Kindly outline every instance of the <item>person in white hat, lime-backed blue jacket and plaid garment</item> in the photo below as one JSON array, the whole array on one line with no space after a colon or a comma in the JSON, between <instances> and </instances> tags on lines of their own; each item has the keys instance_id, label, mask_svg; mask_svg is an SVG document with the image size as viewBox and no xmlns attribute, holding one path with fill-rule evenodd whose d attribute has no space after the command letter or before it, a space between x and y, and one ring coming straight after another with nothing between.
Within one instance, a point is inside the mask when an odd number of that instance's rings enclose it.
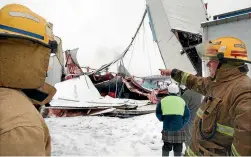
<instances>
[{"instance_id":1,"label":"person in white hat, lime-backed blue jacket and plaid garment","mask_svg":"<svg viewBox=\"0 0 251 157\"><path fill-rule=\"evenodd\" d=\"M174 156L181 156L183 142L186 141L184 126L190 118L190 111L185 101L178 96L179 87L176 84L168 86L168 96L157 103L156 116L163 122L162 130L162 156L169 156L174 151Z\"/></svg>"}]
</instances>

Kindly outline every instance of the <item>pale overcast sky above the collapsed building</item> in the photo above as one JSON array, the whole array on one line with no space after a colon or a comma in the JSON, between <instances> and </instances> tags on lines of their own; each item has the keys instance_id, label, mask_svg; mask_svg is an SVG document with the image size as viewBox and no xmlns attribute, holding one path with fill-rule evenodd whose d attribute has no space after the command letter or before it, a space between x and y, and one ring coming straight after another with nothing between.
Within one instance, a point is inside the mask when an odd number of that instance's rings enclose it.
<instances>
[{"instance_id":1,"label":"pale overcast sky above the collapsed building","mask_svg":"<svg viewBox=\"0 0 251 157\"><path fill-rule=\"evenodd\" d=\"M251 6L251 0L205 1L209 15ZM54 34L63 40L63 49L79 47L81 64L94 68L123 52L145 9L145 0L0 0L0 8L9 3L23 4L53 23ZM150 57L134 52L131 62L135 75L156 74L163 66L155 48L149 49Z\"/></svg>"}]
</instances>

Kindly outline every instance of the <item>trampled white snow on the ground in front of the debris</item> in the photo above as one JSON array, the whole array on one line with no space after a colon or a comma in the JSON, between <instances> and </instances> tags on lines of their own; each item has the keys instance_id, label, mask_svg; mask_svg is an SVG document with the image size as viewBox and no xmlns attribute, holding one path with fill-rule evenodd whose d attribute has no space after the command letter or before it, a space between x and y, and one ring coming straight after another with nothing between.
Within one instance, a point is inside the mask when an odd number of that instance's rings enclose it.
<instances>
[{"instance_id":1,"label":"trampled white snow on the ground in front of the debris","mask_svg":"<svg viewBox=\"0 0 251 157\"><path fill-rule=\"evenodd\" d=\"M162 124L155 114L46 118L52 155L161 156ZM170 154L171 155L171 154Z\"/></svg>"}]
</instances>

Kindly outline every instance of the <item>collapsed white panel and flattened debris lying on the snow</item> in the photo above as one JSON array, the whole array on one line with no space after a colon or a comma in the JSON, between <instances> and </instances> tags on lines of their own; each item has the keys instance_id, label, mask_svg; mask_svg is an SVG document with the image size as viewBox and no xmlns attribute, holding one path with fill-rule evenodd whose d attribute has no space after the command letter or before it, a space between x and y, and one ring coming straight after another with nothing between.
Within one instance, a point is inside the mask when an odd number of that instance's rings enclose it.
<instances>
[{"instance_id":1,"label":"collapsed white panel and flattened debris lying on the snow","mask_svg":"<svg viewBox=\"0 0 251 157\"><path fill-rule=\"evenodd\" d=\"M48 109L48 117L107 115L130 117L153 113L155 104L149 100L133 100L101 96L87 75L65 80L55 85L56 95Z\"/></svg>"}]
</instances>

